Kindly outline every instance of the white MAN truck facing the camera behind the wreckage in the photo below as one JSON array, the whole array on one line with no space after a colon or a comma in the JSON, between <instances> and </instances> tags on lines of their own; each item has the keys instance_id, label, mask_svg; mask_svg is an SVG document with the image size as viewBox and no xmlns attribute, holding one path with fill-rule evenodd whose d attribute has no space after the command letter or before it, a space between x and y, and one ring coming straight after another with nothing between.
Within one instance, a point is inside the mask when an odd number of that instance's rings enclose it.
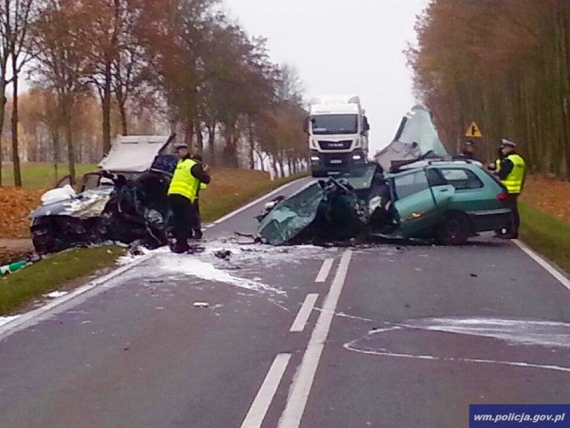
<instances>
[{"instance_id":1,"label":"white MAN truck facing the camera behind the wreckage","mask_svg":"<svg viewBox=\"0 0 570 428\"><path fill-rule=\"evenodd\" d=\"M305 132L313 177L335 175L368 161L370 125L365 113L357 95L311 100Z\"/></svg>"}]
</instances>

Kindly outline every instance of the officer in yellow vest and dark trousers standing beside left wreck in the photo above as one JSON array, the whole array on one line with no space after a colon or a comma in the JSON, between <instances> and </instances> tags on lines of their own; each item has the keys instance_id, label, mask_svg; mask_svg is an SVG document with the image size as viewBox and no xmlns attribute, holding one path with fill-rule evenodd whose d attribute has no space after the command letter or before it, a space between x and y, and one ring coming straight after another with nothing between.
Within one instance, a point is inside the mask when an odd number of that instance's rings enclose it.
<instances>
[{"instance_id":1,"label":"officer in yellow vest and dark trousers standing beside left wreck","mask_svg":"<svg viewBox=\"0 0 570 428\"><path fill-rule=\"evenodd\" d=\"M196 198L199 193L199 184L210 182L208 167L191 159L187 144L176 144L175 152L178 163L170 187L168 199L174 216L175 248L173 251L182 253L190 250L188 239L192 230L196 228L198 218Z\"/></svg>"}]
</instances>

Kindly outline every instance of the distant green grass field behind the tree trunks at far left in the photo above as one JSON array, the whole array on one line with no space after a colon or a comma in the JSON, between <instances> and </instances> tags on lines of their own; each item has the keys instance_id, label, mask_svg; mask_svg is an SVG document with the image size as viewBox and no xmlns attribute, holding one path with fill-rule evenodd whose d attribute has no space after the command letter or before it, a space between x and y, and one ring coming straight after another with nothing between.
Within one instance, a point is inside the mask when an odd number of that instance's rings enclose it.
<instances>
[{"instance_id":1,"label":"distant green grass field behind the tree trunks at far left","mask_svg":"<svg viewBox=\"0 0 570 428\"><path fill-rule=\"evenodd\" d=\"M87 172L97 170L95 164L77 164L77 177ZM51 189L63 177L69 174L68 166L58 164L57 177L53 164L49 163L23 163L21 166L22 185L29 189ZM3 185L14 185L12 163L4 162L2 166Z\"/></svg>"}]
</instances>

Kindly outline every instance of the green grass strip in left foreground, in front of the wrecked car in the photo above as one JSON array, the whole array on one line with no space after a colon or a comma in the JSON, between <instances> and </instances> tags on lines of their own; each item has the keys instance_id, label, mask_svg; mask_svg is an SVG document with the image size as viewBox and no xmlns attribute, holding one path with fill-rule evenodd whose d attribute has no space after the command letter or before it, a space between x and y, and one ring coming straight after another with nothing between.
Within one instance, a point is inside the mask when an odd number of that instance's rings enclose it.
<instances>
[{"instance_id":1,"label":"green grass strip in left foreground, in front of the wrecked car","mask_svg":"<svg viewBox=\"0 0 570 428\"><path fill-rule=\"evenodd\" d=\"M0 279L0 315L8 315L48 292L102 268L112 267L125 249L108 246L61 252Z\"/></svg>"}]
</instances>

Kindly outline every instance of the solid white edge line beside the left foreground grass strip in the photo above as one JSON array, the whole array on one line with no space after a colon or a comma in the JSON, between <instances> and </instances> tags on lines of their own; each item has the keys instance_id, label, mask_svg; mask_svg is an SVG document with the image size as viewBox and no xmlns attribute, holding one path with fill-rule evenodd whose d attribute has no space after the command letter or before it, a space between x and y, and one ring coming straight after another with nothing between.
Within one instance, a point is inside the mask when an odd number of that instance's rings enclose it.
<instances>
[{"instance_id":1,"label":"solid white edge line beside the left foreground grass strip","mask_svg":"<svg viewBox=\"0 0 570 428\"><path fill-rule=\"evenodd\" d=\"M151 253L142 256L140 259L135 259L132 263L122 266L110 272L108 275L96 278L93 281L90 281L89 283L78 287L74 291L69 292L69 294L61 296L58 299L54 299L38 309L30 310L29 312L22 314L20 317L15 318L11 322L0 326L0 341L13 333L19 332L24 328L28 328L31 325L36 325L47 317L51 317L54 314L58 314L66 309L69 309L70 307L76 306L80 302L86 300L86 293L93 291L95 288L99 287L102 284L109 283L117 276L121 276L132 268L136 268L143 262L152 259L154 256L156 256L156 254ZM85 297L85 299L79 299L80 297Z\"/></svg>"}]
</instances>

